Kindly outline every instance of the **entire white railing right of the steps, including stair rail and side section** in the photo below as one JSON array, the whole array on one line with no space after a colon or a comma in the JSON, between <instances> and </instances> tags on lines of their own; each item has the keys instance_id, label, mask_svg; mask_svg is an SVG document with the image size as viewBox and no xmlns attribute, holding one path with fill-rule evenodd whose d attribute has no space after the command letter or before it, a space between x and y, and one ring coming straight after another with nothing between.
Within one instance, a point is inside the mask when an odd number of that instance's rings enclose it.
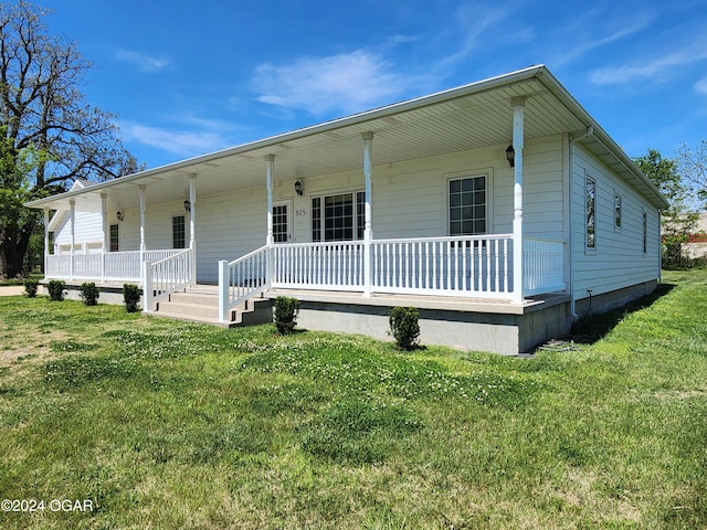
<instances>
[{"instance_id":1,"label":"entire white railing right of the steps, including stair rail and side section","mask_svg":"<svg viewBox=\"0 0 707 530\"><path fill-rule=\"evenodd\" d=\"M362 241L263 246L220 262L220 314L268 288L366 292ZM376 240L371 293L513 300L513 235ZM523 295L563 290L564 242L524 241Z\"/></svg>"}]
</instances>

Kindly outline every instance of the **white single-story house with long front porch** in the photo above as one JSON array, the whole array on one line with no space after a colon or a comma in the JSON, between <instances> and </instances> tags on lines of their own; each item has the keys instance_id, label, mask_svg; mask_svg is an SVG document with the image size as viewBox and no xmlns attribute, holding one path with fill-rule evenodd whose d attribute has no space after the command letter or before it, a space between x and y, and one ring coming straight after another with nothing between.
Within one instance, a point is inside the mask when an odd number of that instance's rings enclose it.
<instances>
[{"instance_id":1,"label":"white single-story house with long front porch","mask_svg":"<svg viewBox=\"0 0 707 530\"><path fill-rule=\"evenodd\" d=\"M262 321L285 294L384 338L415 306L423 342L515 354L655 288L667 203L534 66L29 206L48 279L139 284L147 312Z\"/></svg>"}]
</instances>

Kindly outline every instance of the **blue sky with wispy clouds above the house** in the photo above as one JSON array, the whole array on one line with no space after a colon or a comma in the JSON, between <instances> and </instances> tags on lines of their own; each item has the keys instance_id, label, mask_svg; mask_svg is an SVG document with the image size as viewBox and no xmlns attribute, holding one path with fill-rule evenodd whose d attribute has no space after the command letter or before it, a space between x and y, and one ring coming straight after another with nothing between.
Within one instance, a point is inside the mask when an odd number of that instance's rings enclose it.
<instances>
[{"instance_id":1,"label":"blue sky with wispy clouds above the house","mask_svg":"<svg viewBox=\"0 0 707 530\"><path fill-rule=\"evenodd\" d=\"M36 0L155 168L546 64L629 156L707 138L707 3Z\"/></svg>"}]
</instances>

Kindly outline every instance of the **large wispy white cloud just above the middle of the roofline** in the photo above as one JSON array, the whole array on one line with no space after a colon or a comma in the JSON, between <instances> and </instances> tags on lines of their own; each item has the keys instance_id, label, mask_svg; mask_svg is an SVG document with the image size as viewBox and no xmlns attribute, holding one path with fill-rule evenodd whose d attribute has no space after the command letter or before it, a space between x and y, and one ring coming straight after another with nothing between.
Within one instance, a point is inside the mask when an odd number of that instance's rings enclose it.
<instances>
[{"instance_id":1,"label":"large wispy white cloud just above the middle of the roofline","mask_svg":"<svg viewBox=\"0 0 707 530\"><path fill-rule=\"evenodd\" d=\"M413 77L395 73L380 55L365 50L325 57L300 57L292 64L262 64L255 72L257 100L315 115L347 114L388 103Z\"/></svg>"}]
</instances>

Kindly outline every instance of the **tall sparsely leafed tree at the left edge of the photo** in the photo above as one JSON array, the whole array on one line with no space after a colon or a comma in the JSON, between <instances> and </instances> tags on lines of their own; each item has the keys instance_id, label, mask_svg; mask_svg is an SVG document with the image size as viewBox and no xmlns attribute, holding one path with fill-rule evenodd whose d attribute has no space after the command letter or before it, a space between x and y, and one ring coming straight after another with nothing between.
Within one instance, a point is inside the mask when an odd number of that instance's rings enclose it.
<instances>
[{"instance_id":1,"label":"tall sparsely leafed tree at the left edge of the photo","mask_svg":"<svg viewBox=\"0 0 707 530\"><path fill-rule=\"evenodd\" d=\"M0 3L0 277L22 272L41 214L20 205L66 191L74 180L135 172L115 116L85 103L92 67L76 43L46 33L50 11Z\"/></svg>"}]
</instances>

